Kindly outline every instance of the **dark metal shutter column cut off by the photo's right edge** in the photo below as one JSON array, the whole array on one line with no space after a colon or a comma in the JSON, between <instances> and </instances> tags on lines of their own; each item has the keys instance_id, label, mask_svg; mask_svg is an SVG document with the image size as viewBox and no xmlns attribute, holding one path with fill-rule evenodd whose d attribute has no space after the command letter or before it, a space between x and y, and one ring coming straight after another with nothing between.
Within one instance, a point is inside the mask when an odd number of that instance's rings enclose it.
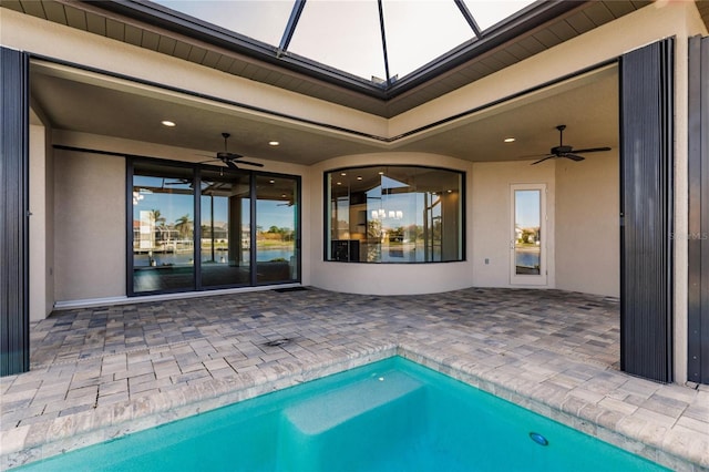
<instances>
[{"instance_id":1,"label":"dark metal shutter column cut off by the photo's right edge","mask_svg":"<svg viewBox=\"0 0 709 472\"><path fill-rule=\"evenodd\" d=\"M689 39L688 117L687 378L709 383L709 38Z\"/></svg>"}]
</instances>

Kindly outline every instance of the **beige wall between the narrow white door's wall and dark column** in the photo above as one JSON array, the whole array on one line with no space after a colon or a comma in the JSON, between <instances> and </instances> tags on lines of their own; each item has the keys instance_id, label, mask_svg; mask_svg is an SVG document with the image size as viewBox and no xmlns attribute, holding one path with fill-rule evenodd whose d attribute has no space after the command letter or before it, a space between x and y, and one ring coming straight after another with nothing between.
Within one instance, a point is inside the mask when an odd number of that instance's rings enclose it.
<instances>
[{"instance_id":1,"label":"beige wall between the narrow white door's wall and dark column","mask_svg":"<svg viewBox=\"0 0 709 472\"><path fill-rule=\"evenodd\" d=\"M620 296L617 151L556 163L556 288Z\"/></svg>"}]
</instances>

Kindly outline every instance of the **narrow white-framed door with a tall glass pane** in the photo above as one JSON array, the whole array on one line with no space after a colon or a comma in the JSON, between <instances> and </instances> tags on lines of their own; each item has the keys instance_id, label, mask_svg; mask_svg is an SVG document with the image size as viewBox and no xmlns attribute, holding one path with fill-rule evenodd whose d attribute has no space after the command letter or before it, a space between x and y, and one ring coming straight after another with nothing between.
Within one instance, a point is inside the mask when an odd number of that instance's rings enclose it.
<instances>
[{"instance_id":1,"label":"narrow white-framed door with a tall glass pane","mask_svg":"<svg viewBox=\"0 0 709 472\"><path fill-rule=\"evenodd\" d=\"M546 285L546 185L512 185L510 283Z\"/></svg>"}]
</instances>

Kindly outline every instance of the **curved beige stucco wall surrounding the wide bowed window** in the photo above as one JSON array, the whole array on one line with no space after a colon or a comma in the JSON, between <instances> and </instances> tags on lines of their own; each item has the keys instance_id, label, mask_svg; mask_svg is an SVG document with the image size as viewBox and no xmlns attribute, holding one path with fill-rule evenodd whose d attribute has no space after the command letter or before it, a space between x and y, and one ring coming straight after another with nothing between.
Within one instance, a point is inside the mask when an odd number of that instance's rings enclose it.
<instances>
[{"instance_id":1,"label":"curved beige stucco wall surrounding the wide bowed window","mask_svg":"<svg viewBox=\"0 0 709 472\"><path fill-rule=\"evenodd\" d=\"M448 156L421 153L382 153L342 156L317 164L310 170L311 206L304 214L310 233L310 284L327 290L350 294L407 295L433 294L474 285L471 263L472 215L466 208L467 260L440 264L358 264L325 261L325 172L358 165L428 165L465 172L466 198L470 201L472 164ZM304 239L306 244L307 240Z\"/></svg>"}]
</instances>

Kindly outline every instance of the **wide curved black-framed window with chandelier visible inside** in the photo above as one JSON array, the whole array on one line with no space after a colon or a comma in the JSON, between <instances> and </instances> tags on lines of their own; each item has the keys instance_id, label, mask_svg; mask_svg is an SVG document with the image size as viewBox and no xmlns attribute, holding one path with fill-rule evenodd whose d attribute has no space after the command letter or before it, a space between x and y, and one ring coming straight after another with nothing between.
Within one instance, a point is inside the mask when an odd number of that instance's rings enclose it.
<instances>
[{"instance_id":1,"label":"wide curved black-framed window with chandelier visible inside","mask_svg":"<svg viewBox=\"0 0 709 472\"><path fill-rule=\"evenodd\" d=\"M326 260L463 260L463 176L417 166L327 173Z\"/></svg>"}]
</instances>

